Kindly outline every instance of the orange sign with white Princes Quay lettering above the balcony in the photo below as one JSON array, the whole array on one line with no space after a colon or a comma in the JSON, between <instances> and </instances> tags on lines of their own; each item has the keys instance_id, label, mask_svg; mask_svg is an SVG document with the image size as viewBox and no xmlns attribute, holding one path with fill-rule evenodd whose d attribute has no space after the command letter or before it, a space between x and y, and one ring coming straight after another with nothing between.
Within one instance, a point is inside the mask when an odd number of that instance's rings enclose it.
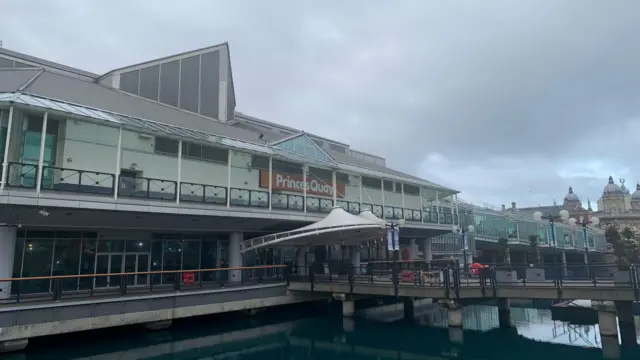
<instances>
[{"instance_id":1,"label":"orange sign with white Princes Quay lettering above the balcony","mask_svg":"<svg viewBox=\"0 0 640 360\"><path fill-rule=\"evenodd\" d=\"M304 181L302 175L289 175L273 171L271 173L271 188L273 190L283 190L291 192L304 192ZM269 171L260 170L260 187L269 188ZM333 196L333 184L331 180L321 180L317 178L308 178L307 194ZM336 183L336 192L338 197L344 197L347 185L345 183Z\"/></svg>"}]
</instances>

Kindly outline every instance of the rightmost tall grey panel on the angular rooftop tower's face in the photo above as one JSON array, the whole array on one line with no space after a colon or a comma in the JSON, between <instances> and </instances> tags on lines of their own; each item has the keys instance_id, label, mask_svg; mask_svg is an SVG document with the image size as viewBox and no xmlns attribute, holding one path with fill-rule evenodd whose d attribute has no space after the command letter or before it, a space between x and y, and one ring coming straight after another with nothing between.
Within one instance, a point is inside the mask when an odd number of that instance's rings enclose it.
<instances>
[{"instance_id":1,"label":"rightmost tall grey panel on the angular rooftop tower's face","mask_svg":"<svg viewBox=\"0 0 640 360\"><path fill-rule=\"evenodd\" d=\"M220 101L220 52L202 54L200 61L200 114L217 119Z\"/></svg>"}]
</instances>

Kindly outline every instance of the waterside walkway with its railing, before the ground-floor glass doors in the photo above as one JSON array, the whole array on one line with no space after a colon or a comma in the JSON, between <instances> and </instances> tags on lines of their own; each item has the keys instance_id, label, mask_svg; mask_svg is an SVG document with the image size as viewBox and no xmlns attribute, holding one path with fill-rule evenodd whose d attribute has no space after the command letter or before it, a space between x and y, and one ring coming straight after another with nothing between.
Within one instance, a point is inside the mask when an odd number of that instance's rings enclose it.
<instances>
[{"instance_id":1,"label":"waterside walkway with its railing, before the ground-floor glass doors","mask_svg":"<svg viewBox=\"0 0 640 360\"><path fill-rule=\"evenodd\" d=\"M283 265L144 273L50 276L0 279L20 282L51 280L52 291L22 296L15 292L0 304L0 352L24 348L29 338L140 324L150 330L172 320L223 312L254 310L328 298L323 294L290 293ZM229 272L241 272L240 282L227 282ZM203 272L218 273L215 282L202 281ZM172 284L130 286L129 277L172 275ZM195 276L194 276L195 275ZM267 276L268 275L268 276ZM69 278L119 277L117 288L63 291ZM194 281L198 279L200 281Z\"/></svg>"}]
</instances>

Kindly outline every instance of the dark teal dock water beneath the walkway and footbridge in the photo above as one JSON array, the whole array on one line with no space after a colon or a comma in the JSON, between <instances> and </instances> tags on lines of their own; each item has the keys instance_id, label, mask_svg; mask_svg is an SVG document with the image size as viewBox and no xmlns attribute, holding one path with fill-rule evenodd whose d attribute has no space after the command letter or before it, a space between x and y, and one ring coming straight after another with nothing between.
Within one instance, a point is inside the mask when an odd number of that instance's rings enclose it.
<instances>
[{"instance_id":1,"label":"dark teal dock water beneath the walkway and footbridge","mask_svg":"<svg viewBox=\"0 0 640 360\"><path fill-rule=\"evenodd\" d=\"M446 327L446 312L435 307L416 308L411 322L401 311L355 319L298 310L253 318L227 314L177 322L157 333L130 327L41 339L25 353L0 359L603 359L597 325L554 322L550 310L512 308L514 327L499 329L495 307L464 311L465 331L459 333ZM622 358L639 359L640 352L623 349Z\"/></svg>"}]
</instances>

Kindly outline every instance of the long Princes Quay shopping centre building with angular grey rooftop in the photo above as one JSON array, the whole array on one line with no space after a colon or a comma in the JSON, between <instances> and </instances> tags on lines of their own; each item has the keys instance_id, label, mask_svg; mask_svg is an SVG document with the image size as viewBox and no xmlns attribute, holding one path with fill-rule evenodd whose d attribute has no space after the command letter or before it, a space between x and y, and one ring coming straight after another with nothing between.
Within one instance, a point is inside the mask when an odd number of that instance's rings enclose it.
<instances>
[{"instance_id":1,"label":"long Princes Quay shopping centre building with angular grey rooftop","mask_svg":"<svg viewBox=\"0 0 640 360\"><path fill-rule=\"evenodd\" d=\"M0 118L0 278L251 265L243 241L333 207L402 219L412 258L470 259L503 236L516 248L529 233L547 238L548 225L460 203L458 191L379 156L236 111L227 44L102 75L0 49ZM452 230L471 224L465 249ZM296 261L293 250L269 248L263 261ZM102 279L64 286L118 278Z\"/></svg>"}]
</instances>

